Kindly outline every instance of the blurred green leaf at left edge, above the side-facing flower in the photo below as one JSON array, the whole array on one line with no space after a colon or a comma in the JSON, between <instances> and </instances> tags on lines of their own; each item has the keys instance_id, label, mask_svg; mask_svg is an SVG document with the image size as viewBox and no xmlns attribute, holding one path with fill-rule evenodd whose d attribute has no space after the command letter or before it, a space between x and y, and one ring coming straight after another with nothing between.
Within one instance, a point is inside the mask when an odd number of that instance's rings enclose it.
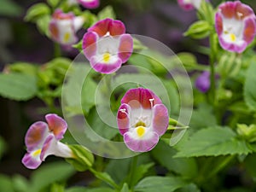
<instances>
[{"instance_id":1,"label":"blurred green leaf at left edge, above the side-facing flower","mask_svg":"<svg viewBox=\"0 0 256 192\"><path fill-rule=\"evenodd\" d=\"M16 101L26 101L37 93L37 79L21 73L0 74L0 95Z\"/></svg>"}]
</instances>

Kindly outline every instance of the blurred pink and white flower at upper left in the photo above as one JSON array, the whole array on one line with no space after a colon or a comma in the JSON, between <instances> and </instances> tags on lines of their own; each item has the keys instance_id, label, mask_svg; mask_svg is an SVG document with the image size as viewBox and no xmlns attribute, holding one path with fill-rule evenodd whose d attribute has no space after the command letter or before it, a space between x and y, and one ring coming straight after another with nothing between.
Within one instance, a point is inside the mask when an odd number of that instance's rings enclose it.
<instances>
[{"instance_id":1,"label":"blurred pink and white flower at upper left","mask_svg":"<svg viewBox=\"0 0 256 192\"><path fill-rule=\"evenodd\" d=\"M84 18L74 16L73 13L63 13L56 9L49 22L49 36L62 45L71 45L77 42L76 32L83 26Z\"/></svg>"}]
</instances>

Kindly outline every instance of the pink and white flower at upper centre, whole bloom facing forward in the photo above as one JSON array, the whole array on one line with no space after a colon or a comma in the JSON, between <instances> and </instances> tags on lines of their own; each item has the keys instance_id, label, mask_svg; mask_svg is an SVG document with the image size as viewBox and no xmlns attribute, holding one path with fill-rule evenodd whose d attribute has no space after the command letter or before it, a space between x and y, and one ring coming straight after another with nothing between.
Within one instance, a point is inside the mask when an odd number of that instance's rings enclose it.
<instances>
[{"instance_id":1,"label":"pink and white flower at upper centre, whole bloom facing forward","mask_svg":"<svg viewBox=\"0 0 256 192\"><path fill-rule=\"evenodd\" d=\"M131 56L133 41L120 20L105 19L88 29L83 38L85 57L99 73L114 73Z\"/></svg>"}]
</instances>

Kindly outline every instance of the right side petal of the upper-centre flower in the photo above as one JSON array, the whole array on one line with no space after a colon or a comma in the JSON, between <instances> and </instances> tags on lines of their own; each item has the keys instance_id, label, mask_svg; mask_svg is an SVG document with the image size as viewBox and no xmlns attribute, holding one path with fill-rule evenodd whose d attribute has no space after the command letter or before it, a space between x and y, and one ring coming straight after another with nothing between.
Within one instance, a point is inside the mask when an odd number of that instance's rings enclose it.
<instances>
[{"instance_id":1,"label":"right side petal of the upper-centre flower","mask_svg":"<svg viewBox=\"0 0 256 192\"><path fill-rule=\"evenodd\" d=\"M133 40L130 34L123 34L120 37L119 43L119 58L122 62L126 62L132 53L133 50Z\"/></svg>"}]
</instances>

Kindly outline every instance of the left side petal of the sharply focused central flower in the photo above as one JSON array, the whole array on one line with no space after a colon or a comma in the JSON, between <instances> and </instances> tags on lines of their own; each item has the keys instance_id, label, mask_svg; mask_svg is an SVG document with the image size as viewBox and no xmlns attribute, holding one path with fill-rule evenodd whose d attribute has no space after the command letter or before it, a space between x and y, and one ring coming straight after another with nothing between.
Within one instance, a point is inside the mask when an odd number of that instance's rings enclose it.
<instances>
[{"instance_id":1,"label":"left side petal of the sharply focused central flower","mask_svg":"<svg viewBox=\"0 0 256 192\"><path fill-rule=\"evenodd\" d=\"M130 127L130 112L131 108L127 104L121 104L118 114L117 114L117 123L119 127L119 132L121 135L124 135Z\"/></svg>"}]
</instances>

